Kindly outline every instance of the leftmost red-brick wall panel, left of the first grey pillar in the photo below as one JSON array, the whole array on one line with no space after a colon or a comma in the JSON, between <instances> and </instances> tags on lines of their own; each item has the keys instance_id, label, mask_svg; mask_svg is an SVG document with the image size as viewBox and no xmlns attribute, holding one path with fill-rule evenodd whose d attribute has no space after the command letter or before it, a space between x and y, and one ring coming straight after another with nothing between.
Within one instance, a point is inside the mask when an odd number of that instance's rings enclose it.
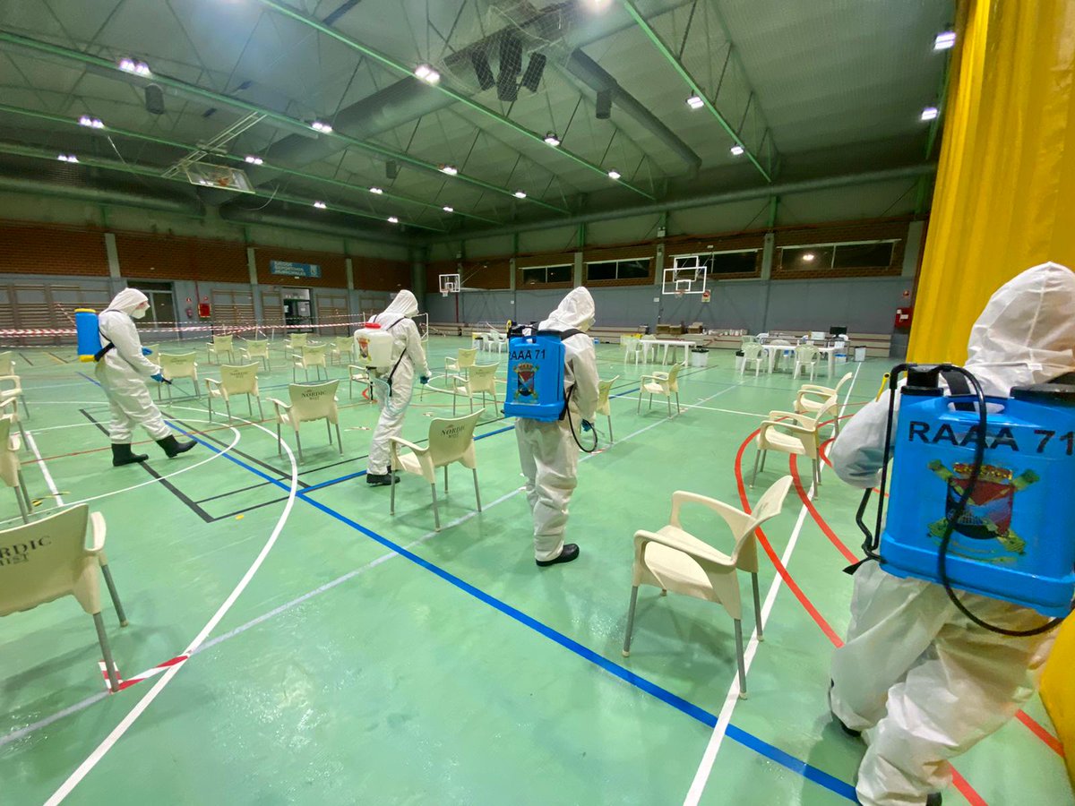
<instances>
[{"instance_id":1,"label":"leftmost red-brick wall panel, left of the first grey pillar","mask_svg":"<svg viewBox=\"0 0 1075 806\"><path fill-rule=\"evenodd\" d=\"M92 230L0 222L0 274L108 277L104 235Z\"/></svg>"}]
</instances>

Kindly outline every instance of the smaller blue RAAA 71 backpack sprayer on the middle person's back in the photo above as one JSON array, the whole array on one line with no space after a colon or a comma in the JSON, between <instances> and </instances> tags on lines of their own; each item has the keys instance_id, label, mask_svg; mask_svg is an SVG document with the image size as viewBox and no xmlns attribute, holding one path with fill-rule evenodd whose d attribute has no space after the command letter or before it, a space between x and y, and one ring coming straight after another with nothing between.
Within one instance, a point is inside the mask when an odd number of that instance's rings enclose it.
<instances>
[{"instance_id":1,"label":"smaller blue RAAA 71 backpack sprayer on the middle person's back","mask_svg":"<svg viewBox=\"0 0 1075 806\"><path fill-rule=\"evenodd\" d=\"M578 442L568 405L574 387L567 395L563 393L563 340L582 332L574 329L538 330L532 323L511 328L504 415L541 422L556 422L567 416L575 444L587 454L592 454L598 446L597 433L590 448Z\"/></svg>"}]
</instances>

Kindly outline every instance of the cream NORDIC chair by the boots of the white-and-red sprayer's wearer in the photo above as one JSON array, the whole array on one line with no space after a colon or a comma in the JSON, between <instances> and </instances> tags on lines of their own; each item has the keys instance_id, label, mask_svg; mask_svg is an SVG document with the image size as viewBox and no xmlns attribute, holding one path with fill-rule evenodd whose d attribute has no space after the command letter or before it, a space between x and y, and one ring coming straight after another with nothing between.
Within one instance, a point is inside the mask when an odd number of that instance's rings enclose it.
<instances>
[{"instance_id":1,"label":"cream NORDIC chair by the boots of the white-and-red sprayer's wearer","mask_svg":"<svg viewBox=\"0 0 1075 806\"><path fill-rule=\"evenodd\" d=\"M474 427L477 426L482 413L475 412L456 419L434 419L429 423L429 443L419 447L400 436L391 437L389 443L392 455L392 472L389 473L392 483L391 506L389 512L396 514L396 473L414 473L429 483L433 496L433 524L441 531L441 513L436 505L436 469L444 467L444 494L448 494L448 465L459 462L474 474L474 498L477 500L477 510L482 512L482 492L477 486L477 461L474 456ZM400 454L399 449L407 448L410 454Z\"/></svg>"}]
</instances>

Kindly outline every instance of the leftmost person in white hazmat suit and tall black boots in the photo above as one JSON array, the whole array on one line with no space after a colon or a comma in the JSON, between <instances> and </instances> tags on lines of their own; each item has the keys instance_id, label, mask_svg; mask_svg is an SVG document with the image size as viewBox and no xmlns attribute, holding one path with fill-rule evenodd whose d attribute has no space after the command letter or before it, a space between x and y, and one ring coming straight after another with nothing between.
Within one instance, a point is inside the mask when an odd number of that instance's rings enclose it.
<instances>
[{"instance_id":1,"label":"leftmost person in white hazmat suit and tall black boots","mask_svg":"<svg viewBox=\"0 0 1075 806\"><path fill-rule=\"evenodd\" d=\"M145 357L148 350L143 350L134 327L134 319L145 316L148 307L149 300L144 293L137 288L125 288L98 317L101 346L108 349L97 362L94 374L104 389L112 412L109 436L112 438L113 466L144 462L149 458L131 451L135 426L144 428L169 458L197 444L175 438L145 388L147 377L157 383L164 380L160 368Z\"/></svg>"}]
</instances>

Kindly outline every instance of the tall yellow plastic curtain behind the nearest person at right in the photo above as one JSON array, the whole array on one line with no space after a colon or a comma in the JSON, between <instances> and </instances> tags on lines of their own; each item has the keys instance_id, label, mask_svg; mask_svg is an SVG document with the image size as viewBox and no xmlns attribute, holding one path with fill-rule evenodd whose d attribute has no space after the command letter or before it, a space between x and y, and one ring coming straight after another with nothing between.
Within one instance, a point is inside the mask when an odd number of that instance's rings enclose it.
<instances>
[{"instance_id":1,"label":"tall yellow plastic curtain behind the nearest person at right","mask_svg":"<svg viewBox=\"0 0 1075 806\"><path fill-rule=\"evenodd\" d=\"M913 361L963 362L971 325L998 286L1046 260L1075 269L1075 0L958 9ZM1042 697L1075 781L1075 618L1067 621Z\"/></svg>"}]
</instances>

